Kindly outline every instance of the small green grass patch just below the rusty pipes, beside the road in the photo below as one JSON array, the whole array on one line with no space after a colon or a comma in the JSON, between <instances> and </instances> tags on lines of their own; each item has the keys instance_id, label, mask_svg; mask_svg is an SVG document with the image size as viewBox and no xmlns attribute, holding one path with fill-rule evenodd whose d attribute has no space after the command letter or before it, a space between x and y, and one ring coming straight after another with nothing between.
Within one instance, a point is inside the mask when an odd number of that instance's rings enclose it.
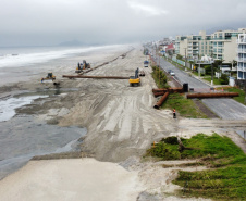
<instances>
[{"instance_id":1,"label":"small green grass patch just below the rusty pipes, beside the road","mask_svg":"<svg viewBox=\"0 0 246 201\"><path fill-rule=\"evenodd\" d=\"M169 95L161 109L174 109L181 116L192 118L206 118L205 115L190 99L186 99L184 95L172 93Z\"/></svg>"}]
</instances>

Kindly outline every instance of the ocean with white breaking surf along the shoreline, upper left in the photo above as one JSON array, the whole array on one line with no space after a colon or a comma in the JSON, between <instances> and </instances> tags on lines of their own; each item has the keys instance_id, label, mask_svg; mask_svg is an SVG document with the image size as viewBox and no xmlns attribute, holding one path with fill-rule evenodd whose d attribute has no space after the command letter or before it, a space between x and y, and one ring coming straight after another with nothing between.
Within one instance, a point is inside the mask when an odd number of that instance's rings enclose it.
<instances>
[{"instance_id":1,"label":"ocean with white breaking surf along the shoreline, upper left","mask_svg":"<svg viewBox=\"0 0 246 201\"><path fill-rule=\"evenodd\" d=\"M40 74L49 71L67 68L87 56L127 50L127 45L94 46L94 47L23 47L0 48L0 87L3 85L26 81L32 78L40 80Z\"/></svg>"}]
</instances>

